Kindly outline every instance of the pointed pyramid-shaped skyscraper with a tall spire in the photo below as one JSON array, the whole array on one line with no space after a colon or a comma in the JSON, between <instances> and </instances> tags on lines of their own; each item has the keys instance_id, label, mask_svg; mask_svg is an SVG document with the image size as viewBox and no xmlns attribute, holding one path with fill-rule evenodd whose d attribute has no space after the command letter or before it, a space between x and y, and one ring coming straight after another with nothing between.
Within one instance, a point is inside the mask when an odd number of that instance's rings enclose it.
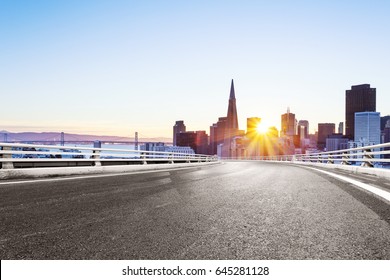
<instances>
[{"instance_id":1,"label":"pointed pyramid-shaped skyscraper with a tall spire","mask_svg":"<svg viewBox=\"0 0 390 280\"><path fill-rule=\"evenodd\" d=\"M224 144L222 149L222 157L231 157L233 155L233 138L239 135L238 129L238 117L237 117L237 106L236 106L236 94L234 92L234 83L232 80L230 86L229 95L229 106L226 116L226 127Z\"/></svg>"}]
</instances>

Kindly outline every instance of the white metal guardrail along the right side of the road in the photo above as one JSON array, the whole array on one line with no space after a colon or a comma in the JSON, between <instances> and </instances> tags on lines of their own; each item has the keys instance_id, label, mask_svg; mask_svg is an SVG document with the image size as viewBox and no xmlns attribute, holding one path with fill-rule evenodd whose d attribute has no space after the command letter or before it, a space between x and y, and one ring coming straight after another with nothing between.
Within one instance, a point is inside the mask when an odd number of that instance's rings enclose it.
<instances>
[{"instance_id":1,"label":"white metal guardrail along the right side of the road","mask_svg":"<svg viewBox=\"0 0 390 280\"><path fill-rule=\"evenodd\" d=\"M358 148L296 154L296 155L277 155L277 156L256 156L230 158L237 160L265 160L265 161L289 161L289 162L306 162L306 163L327 163L342 165L359 165L364 167L383 167L390 166L390 142L364 146Z\"/></svg>"}]
</instances>

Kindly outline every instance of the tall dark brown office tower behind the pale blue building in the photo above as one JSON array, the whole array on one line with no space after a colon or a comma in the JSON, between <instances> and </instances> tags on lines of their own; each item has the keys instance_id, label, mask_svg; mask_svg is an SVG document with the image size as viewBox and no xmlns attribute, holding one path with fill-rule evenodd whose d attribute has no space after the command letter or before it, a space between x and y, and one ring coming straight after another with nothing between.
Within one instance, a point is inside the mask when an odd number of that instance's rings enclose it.
<instances>
[{"instance_id":1,"label":"tall dark brown office tower behind the pale blue building","mask_svg":"<svg viewBox=\"0 0 390 280\"><path fill-rule=\"evenodd\" d=\"M376 111L376 89L369 84L352 86L345 91L345 135L354 139L355 113Z\"/></svg>"}]
</instances>

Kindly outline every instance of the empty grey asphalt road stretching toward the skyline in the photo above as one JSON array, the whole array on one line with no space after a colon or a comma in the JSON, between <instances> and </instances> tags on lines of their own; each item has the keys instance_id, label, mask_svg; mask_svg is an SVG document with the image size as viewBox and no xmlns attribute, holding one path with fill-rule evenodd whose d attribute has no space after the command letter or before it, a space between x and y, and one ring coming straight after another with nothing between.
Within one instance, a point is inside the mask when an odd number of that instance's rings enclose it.
<instances>
[{"instance_id":1,"label":"empty grey asphalt road stretching toward the skyline","mask_svg":"<svg viewBox=\"0 0 390 280\"><path fill-rule=\"evenodd\" d=\"M390 259L388 202L266 162L2 182L0 225L1 259Z\"/></svg>"}]
</instances>

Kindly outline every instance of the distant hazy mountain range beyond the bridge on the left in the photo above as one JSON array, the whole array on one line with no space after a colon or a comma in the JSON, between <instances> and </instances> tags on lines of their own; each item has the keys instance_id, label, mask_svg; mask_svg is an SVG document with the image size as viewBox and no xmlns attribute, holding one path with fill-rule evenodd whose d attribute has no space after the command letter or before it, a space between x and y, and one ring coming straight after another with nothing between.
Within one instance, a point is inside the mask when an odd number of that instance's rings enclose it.
<instances>
[{"instance_id":1,"label":"distant hazy mountain range beyond the bridge on the left","mask_svg":"<svg viewBox=\"0 0 390 280\"><path fill-rule=\"evenodd\" d=\"M88 135L88 134L64 134L65 142L85 141L91 142L99 140L102 142L133 142L133 137L120 136L104 136L104 135ZM61 132L9 132L0 131L0 142L59 142L61 141ZM171 138L155 137L155 138L139 138L139 142L164 142L172 143Z\"/></svg>"}]
</instances>

